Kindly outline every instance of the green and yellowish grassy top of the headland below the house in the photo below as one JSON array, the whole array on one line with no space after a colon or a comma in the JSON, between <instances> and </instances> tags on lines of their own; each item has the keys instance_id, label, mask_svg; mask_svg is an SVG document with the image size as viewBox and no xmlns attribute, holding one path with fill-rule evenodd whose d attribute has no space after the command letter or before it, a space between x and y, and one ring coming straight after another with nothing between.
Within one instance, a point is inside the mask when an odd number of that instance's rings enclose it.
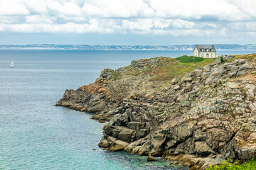
<instances>
[{"instance_id":1,"label":"green and yellowish grassy top of the headland below the house","mask_svg":"<svg viewBox=\"0 0 256 170\"><path fill-rule=\"evenodd\" d=\"M196 67L203 67L214 62L214 59L203 59L183 55L177 58L154 57L151 59L134 60L131 65L124 67L124 74L149 77L151 81L169 81L174 77L182 77L193 71ZM116 78L120 77L119 69L114 72Z\"/></svg>"}]
</instances>

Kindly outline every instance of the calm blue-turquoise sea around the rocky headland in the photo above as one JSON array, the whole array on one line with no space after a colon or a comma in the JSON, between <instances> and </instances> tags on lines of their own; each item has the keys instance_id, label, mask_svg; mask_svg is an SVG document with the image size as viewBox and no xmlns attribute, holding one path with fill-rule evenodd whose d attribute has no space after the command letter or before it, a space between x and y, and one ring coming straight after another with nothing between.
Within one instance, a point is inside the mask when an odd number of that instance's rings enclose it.
<instances>
[{"instance_id":1,"label":"calm blue-turquoise sea around the rocky headland","mask_svg":"<svg viewBox=\"0 0 256 170\"><path fill-rule=\"evenodd\" d=\"M65 89L94 82L104 68L117 69L149 57L191 54L0 50L0 169L176 169L164 162L146 162L146 157L102 151L97 146L102 123L91 120L90 113L54 105Z\"/></svg>"}]
</instances>

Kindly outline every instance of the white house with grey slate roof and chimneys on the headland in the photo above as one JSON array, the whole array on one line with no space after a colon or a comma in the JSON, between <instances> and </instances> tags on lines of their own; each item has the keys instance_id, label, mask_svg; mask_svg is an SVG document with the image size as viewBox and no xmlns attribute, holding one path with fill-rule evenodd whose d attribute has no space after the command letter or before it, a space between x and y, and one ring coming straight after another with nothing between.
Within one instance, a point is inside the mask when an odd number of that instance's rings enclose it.
<instances>
[{"instance_id":1,"label":"white house with grey slate roof and chimneys on the headland","mask_svg":"<svg viewBox=\"0 0 256 170\"><path fill-rule=\"evenodd\" d=\"M194 57L215 58L216 50L214 45L196 45L193 50Z\"/></svg>"}]
</instances>

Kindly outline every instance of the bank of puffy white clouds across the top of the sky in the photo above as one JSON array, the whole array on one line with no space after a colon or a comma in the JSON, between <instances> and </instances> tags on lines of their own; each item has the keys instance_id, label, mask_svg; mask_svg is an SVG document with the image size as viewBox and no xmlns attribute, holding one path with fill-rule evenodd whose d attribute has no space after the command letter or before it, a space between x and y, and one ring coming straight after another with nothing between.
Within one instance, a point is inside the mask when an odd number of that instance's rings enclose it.
<instances>
[{"instance_id":1,"label":"bank of puffy white clouds across the top of the sky","mask_svg":"<svg viewBox=\"0 0 256 170\"><path fill-rule=\"evenodd\" d=\"M1 32L229 36L255 25L255 0L0 0Z\"/></svg>"}]
</instances>

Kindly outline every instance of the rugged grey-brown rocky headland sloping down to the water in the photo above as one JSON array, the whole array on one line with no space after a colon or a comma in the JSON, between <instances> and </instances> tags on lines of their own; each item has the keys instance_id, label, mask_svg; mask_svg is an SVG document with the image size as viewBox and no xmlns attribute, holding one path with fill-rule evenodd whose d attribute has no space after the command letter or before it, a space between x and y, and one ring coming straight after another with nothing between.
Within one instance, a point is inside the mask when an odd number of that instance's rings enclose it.
<instances>
[{"instance_id":1,"label":"rugged grey-brown rocky headland sloping down to the water","mask_svg":"<svg viewBox=\"0 0 256 170\"><path fill-rule=\"evenodd\" d=\"M166 57L105 69L58 106L95 112L100 147L206 169L256 157L256 55L181 63ZM177 67L178 66L178 67ZM169 81L168 81L169 80Z\"/></svg>"}]
</instances>

